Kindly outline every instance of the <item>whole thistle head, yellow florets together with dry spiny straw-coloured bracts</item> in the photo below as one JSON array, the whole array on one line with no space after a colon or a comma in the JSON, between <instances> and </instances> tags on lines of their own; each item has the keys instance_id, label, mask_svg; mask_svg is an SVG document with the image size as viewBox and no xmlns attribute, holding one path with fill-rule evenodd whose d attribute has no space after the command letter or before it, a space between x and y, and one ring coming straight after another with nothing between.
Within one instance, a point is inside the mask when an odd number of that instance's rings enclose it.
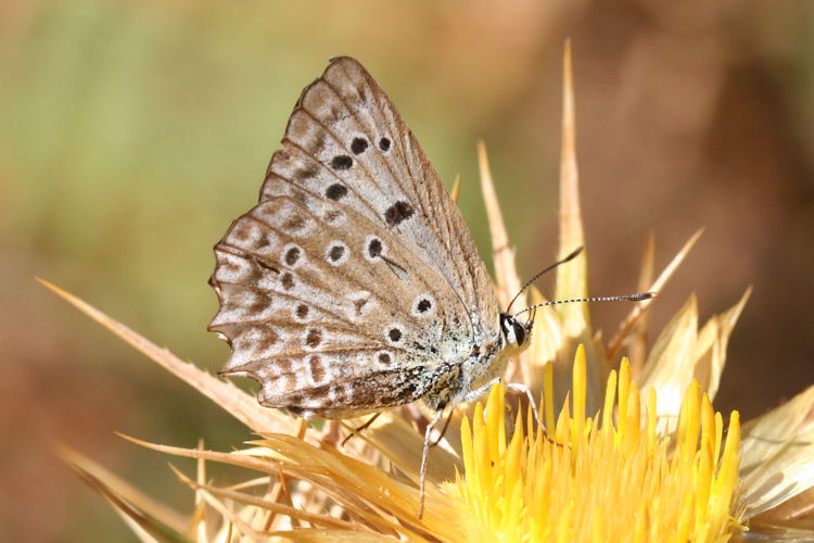
<instances>
[{"instance_id":1,"label":"whole thistle head, yellow florets together with dry spiny straw-coloured bracts","mask_svg":"<svg viewBox=\"0 0 814 543\"><path fill-rule=\"evenodd\" d=\"M585 245L568 48L564 68L562 256ZM520 280L483 146L479 155L495 288L506 304ZM654 281L650 242L639 290L662 290L697 238ZM557 298L587 295L585 261L558 268ZM196 459L194 477L175 470L194 491L191 516L63 447L65 460L143 541L726 541L743 527L814 533L805 520L814 497L814 387L742 428L734 413L726 432L724 418L712 408L726 344L748 291L700 330L690 298L649 353L644 341L649 302L636 304L607 344L592 331L586 304L538 311L532 346L510 365L507 381L543 393L543 421L551 433L546 438L529 417L524 424L507 409L511 402L503 388L493 390L485 409L476 406L471 418L456 414L441 445L431 450L419 520L423 432L417 426L427 419L415 406L385 412L343 446L347 427L341 422L309 426L264 408L231 382L44 283L259 435L230 453L138 441ZM542 300L534 290L531 295L532 302ZM631 363L616 371L625 348ZM558 413L555 406L562 408ZM256 476L218 487L207 479L207 462Z\"/></svg>"}]
</instances>

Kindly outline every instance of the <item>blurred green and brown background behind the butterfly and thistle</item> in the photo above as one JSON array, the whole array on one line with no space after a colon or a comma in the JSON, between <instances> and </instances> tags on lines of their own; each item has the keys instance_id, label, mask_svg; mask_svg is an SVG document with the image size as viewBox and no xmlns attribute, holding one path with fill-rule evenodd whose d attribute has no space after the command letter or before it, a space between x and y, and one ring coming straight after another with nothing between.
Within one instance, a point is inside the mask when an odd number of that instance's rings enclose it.
<instances>
[{"instance_id":1,"label":"blurred green and brown background behind the butterfly and thistle","mask_svg":"<svg viewBox=\"0 0 814 543\"><path fill-rule=\"evenodd\" d=\"M487 254L485 140L530 276L557 251L567 37L592 293L636 289L649 232L661 268L705 227L652 306L651 338L692 292L703 321L753 285L716 407L748 419L814 382L811 2L7 0L0 540L132 540L54 442L191 510L167 458L113 432L226 450L249 437L35 276L216 370L228 348L205 331L212 245L339 54L380 81L447 184L461 174ZM612 332L627 308L592 307L595 327Z\"/></svg>"}]
</instances>

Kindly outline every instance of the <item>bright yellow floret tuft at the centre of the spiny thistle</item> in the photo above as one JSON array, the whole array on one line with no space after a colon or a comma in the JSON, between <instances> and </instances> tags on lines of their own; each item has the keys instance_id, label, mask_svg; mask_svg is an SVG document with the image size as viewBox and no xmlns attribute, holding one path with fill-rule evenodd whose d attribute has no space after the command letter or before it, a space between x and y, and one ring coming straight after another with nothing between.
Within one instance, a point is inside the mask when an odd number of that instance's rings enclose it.
<instances>
[{"instance_id":1,"label":"bright yellow floret tuft at the centre of the spiny thistle","mask_svg":"<svg viewBox=\"0 0 814 543\"><path fill-rule=\"evenodd\" d=\"M735 515L738 414L725 444L721 414L698 383L684 395L675 442L657 431L657 394L639 408L626 361L611 372L601 418L585 412L585 350L573 366L573 415L552 435L523 424L507 438L503 387L461 427L466 477L447 492L467 541L720 541ZM618 399L618 400L616 400ZM619 422L613 422L614 407ZM699 440L700 430L700 440ZM508 440L508 441L507 441Z\"/></svg>"}]
</instances>

